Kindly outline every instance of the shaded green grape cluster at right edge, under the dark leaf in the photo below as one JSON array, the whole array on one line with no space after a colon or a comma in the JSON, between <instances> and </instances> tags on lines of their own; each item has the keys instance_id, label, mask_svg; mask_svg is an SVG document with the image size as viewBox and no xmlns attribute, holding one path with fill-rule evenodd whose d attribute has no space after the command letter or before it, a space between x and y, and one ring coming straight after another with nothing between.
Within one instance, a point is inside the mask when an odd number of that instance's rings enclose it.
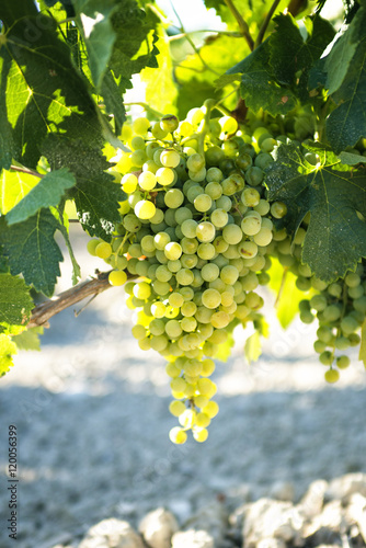
<instances>
[{"instance_id":1,"label":"shaded green grape cluster at right edge, under the dark leaf","mask_svg":"<svg viewBox=\"0 0 366 548\"><path fill-rule=\"evenodd\" d=\"M357 331L366 317L365 262L357 265L356 272L348 272L336 282L328 284L317 278L307 264L301 264L308 220L306 217L293 240L285 229L275 231L267 252L296 275L297 288L309 294L299 302L299 317L304 323L318 320L313 347L320 363L328 366L325 380L336 383L340 369L351 364L350 357L340 352L358 346L361 342Z\"/></svg>"}]
</instances>

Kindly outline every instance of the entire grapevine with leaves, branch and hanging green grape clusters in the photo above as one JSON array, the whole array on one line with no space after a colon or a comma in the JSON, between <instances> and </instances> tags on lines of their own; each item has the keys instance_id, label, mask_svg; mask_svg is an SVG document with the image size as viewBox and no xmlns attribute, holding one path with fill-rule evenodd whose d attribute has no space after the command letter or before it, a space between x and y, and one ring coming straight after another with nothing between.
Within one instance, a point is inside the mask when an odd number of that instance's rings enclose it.
<instances>
[{"instance_id":1,"label":"entire grapevine with leaves, branch and hanging green grape clusters","mask_svg":"<svg viewBox=\"0 0 366 548\"><path fill-rule=\"evenodd\" d=\"M265 335L278 273L318 324L324 379L339 380L350 347L366 363L366 5L345 1L336 34L323 1L263 1L245 18L240 2L206 0L226 31L197 46L180 28L193 48L180 61L160 9L112 3L0 7L0 375L53 315L122 288L136 344L167 362L170 439L201 443L222 347L238 326ZM124 95L139 72L136 115ZM81 284L70 210L102 270ZM56 231L75 287L52 300ZM49 300L35 306L34 292Z\"/></svg>"}]
</instances>

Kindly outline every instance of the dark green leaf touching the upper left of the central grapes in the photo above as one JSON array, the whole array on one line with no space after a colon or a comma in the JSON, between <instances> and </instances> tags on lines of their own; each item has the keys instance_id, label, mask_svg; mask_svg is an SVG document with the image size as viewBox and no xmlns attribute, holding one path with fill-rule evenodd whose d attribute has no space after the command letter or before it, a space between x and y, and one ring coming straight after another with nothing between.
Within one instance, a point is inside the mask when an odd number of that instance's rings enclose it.
<instances>
[{"instance_id":1,"label":"dark green leaf touching the upper left of the central grapes","mask_svg":"<svg viewBox=\"0 0 366 548\"><path fill-rule=\"evenodd\" d=\"M90 236L108 240L114 225L119 222L119 202L125 198L121 185L106 173L111 164L99 149L82 142L59 142L49 139L44 153L52 169L67 165L77 178L77 184L68 191L73 198L78 217Z\"/></svg>"}]
</instances>

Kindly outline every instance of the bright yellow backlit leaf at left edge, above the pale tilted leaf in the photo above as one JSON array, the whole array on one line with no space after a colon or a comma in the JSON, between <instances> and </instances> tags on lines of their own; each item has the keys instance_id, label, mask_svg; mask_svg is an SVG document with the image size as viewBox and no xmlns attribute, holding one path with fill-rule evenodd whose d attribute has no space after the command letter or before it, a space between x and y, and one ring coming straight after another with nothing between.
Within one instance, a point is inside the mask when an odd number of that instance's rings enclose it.
<instances>
[{"instance_id":1,"label":"bright yellow backlit leaf at left edge, above the pale tilted leaf","mask_svg":"<svg viewBox=\"0 0 366 548\"><path fill-rule=\"evenodd\" d=\"M10 212L38 182L39 178L31 173L3 170L0 175L0 213Z\"/></svg>"}]
</instances>

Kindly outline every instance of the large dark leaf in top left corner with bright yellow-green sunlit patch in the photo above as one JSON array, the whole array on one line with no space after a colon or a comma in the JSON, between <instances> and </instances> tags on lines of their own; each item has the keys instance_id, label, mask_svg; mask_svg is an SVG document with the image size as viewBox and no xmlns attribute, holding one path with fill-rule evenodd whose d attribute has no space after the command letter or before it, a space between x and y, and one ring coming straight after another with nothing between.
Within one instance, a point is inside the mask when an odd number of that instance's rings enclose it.
<instances>
[{"instance_id":1,"label":"large dark leaf in top left corner with bright yellow-green sunlit patch","mask_svg":"<svg viewBox=\"0 0 366 548\"><path fill-rule=\"evenodd\" d=\"M23 165L36 168L48 133L70 132L85 142L102 142L94 103L56 21L38 13L32 1L16 2L16 9L1 2L0 20L5 31L0 46L1 114L12 126L8 160L11 153Z\"/></svg>"}]
</instances>

